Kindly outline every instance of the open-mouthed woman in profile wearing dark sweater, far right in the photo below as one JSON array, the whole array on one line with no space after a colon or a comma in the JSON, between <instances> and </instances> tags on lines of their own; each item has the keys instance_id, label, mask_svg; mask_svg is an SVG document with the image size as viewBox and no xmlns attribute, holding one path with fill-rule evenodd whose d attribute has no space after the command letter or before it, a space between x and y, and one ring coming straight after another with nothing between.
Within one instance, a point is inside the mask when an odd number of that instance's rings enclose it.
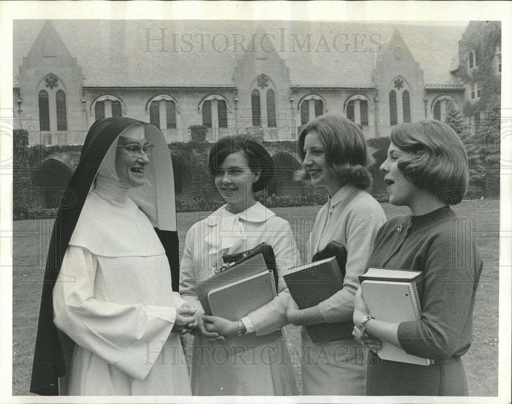
<instances>
[{"instance_id":1,"label":"open-mouthed woman in profile wearing dark sweater, far right","mask_svg":"<svg viewBox=\"0 0 512 404\"><path fill-rule=\"evenodd\" d=\"M472 228L450 208L462 201L467 188L464 145L445 123L403 123L391 132L388 158L380 170L390 203L408 206L411 213L382 226L368 267L423 272L422 318L376 320L359 289L354 336L370 347L386 341L434 364L381 360L371 352L367 395L467 395L461 356L472 341L482 262Z\"/></svg>"}]
</instances>

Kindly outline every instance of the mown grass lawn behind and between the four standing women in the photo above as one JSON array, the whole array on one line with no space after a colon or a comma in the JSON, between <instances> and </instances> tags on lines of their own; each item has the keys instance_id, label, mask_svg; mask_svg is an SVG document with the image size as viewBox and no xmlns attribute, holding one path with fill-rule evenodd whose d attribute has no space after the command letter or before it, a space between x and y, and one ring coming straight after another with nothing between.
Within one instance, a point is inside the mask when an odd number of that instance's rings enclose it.
<instances>
[{"instance_id":1,"label":"mown grass lawn behind and between the four standing women","mask_svg":"<svg viewBox=\"0 0 512 404\"><path fill-rule=\"evenodd\" d=\"M388 218L408 212L407 208L382 204ZM310 226L319 207L272 209L288 220L296 237L297 246L305 257ZM484 261L484 270L476 296L474 310L474 341L463 356L470 395L496 396L498 394L498 288L499 288L499 201L489 206L474 206L464 201L455 207L461 215L475 220L477 245ZM178 214L180 256L184 249L187 230L192 224L207 217L209 212ZM308 219L308 220L304 220ZM13 241L13 395L28 395L30 372L35 344L37 318L41 295L41 281L53 223L51 220L14 222ZM298 347L298 329L285 327L292 347ZM293 349L293 352L296 352ZM298 358L295 372L300 384Z\"/></svg>"}]
</instances>

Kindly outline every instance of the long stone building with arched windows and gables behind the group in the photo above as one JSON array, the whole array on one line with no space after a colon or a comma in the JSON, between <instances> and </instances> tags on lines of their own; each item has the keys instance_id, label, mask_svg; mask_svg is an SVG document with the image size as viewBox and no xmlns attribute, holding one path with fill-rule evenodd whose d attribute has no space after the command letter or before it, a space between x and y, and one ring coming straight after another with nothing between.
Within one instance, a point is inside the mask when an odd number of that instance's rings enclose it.
<instances>
[{"instance_id":1,"label":"long stone building with arched windows and gables behind the group","mask_svg":"<svg viewBox=\"0 0 512 404\"><path fill-rule=\"evenodd\" d=\"M190 144L191 125L205 125L210 142L259 133L280 165L278 190L293 185L297 128L315 116L345 115L377 139L399 122L442 119L449 100L462 109L478 92L455 74L465 57L463 31L345 22L16 20L14 117L29 132L29 150L38 147L31 152L37 189L57 180L58 188L71 176L80 146L70 145L82 144L95 120L130 116L164 132L178 193L206 186L191 168L202 162L183 152L202 150ZM51 199L42 198L44 207Z\"/></svg>"}]
</instances>

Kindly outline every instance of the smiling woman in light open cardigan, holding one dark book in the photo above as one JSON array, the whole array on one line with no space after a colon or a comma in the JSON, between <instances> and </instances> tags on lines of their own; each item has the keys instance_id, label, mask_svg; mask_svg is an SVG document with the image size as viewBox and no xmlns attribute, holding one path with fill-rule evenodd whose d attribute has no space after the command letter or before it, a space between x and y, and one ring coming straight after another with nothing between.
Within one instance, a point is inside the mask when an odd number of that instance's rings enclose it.
<instances>
[{"instance_id":1,"label":"smiling woman in light open cardigan, holding one dark book","mask_svg":"<svg viewBox=\"0 0 512 404\"><path fill-rule=\"evenodd\" d=\"M304 126L298 138L305 175L324 187L329 201L318 211L307 246L307 262L331 241L347 249L343 289L317 306L299 310L288 300L288 321L296 326L348 323L351 330L354 295L366 268L379 227L386 221L380 204L368 194L373 158L359 127L342 116L322 115ZM313 343L301 330L302 394L364 395L365 350L354 337Z\"/></svg>"}]
</instances>

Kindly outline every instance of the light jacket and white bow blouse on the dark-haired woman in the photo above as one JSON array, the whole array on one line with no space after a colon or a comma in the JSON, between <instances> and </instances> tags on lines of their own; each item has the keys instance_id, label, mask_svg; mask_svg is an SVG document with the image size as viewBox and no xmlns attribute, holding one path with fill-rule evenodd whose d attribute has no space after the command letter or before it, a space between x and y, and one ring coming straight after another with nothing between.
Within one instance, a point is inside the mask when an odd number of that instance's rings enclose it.
<instances>
[{"instance_id":1,"label":"light jacket and white bow blouse on the dark-haired woman","mask_svg":"<svg viewBox=\"0 0 512 404\"><path fill-rule=\"evenodd\" d=\"M195 286L215 274L215 263L222 260L223 254L246 251L263 242L274 250L279 294L248 317L257 335L268 334L286 325L289 292L283 275L289 268L300 265L301 258L289 223L259 202L237 215L222 206L190 227L180 267L183 299L204 311L194 292Z\"/></svg>"}]
</instances>

